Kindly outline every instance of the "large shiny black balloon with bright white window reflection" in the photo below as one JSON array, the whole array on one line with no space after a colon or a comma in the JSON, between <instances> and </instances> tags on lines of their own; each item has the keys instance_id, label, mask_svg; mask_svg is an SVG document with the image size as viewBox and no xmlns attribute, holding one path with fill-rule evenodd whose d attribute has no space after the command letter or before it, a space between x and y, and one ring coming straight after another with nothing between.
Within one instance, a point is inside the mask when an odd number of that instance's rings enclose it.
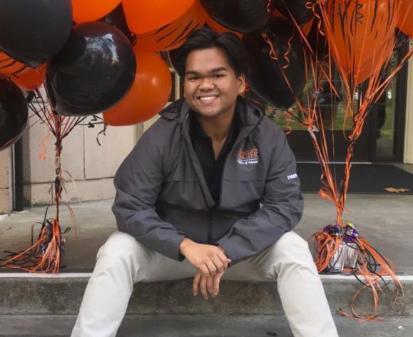
<instances>
[{"instance_id":1,"label":"large shiny black balloon with bright white window reflection","mask_svg":"<svg viewBox=\"0 0 413 337\"><path fill-rule=\"evenodd\" d=\"M131 89L135 72L133 46L125 34L98 21L78 24L48 65L53 109L63 116L106 111Z\"/></svg>"}]
</instances>

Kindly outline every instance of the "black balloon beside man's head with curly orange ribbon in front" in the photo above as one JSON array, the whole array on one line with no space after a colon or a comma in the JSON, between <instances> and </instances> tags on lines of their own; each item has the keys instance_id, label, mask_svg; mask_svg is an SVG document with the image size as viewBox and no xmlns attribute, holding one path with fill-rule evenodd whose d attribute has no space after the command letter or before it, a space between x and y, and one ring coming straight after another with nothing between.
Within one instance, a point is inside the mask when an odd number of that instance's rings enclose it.
<instances>
[{"instance_id":1,"label":"black balloon beside man's head with curly orange ribbon in front","mask_svg":"<svg viewBox=\"0 0 413 337\"><path fill-rule=\"evenodd\" d=\"M270 27L267 36L279 61L271 58L271 48L262 36L243 37L250 57L248 84L267 103L288 109L295 104L306 83L305 52L298 32L287 21L273 20Z\"/></svg>"}]
</instances>

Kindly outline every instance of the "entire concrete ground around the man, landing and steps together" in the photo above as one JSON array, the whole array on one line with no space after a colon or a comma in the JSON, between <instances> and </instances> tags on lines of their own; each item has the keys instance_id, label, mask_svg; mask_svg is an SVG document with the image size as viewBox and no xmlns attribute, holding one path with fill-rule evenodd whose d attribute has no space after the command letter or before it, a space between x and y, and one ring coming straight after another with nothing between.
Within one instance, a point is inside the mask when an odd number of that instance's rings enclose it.
<instances>
[{"instance_id":1,"label":"entire concrete ground around the man, landing and steps together","mask_svg":"<svg viewBox=\"0 0 413 337\"><path fill-rule=\"evenodd\" d=\"M76 230L67 209L61 207L62 229L70 226L72 231L65 236L63 264L67 267L60 274L31 275L0 269L0 336L69 336L96 252L116 230L111 203L71 205ZM397 306L401 316L381 323L360 324L335 316L340 336L413 336L413 196L350 195L347 208L352 213L345 214L344 220L355 223L372 246L397 264L404 298ZM45 210L30 208L2 218L0 251L28 248L31 225L43 220ZM296 231L308 238L334 221L335 208L330 201L306 194L305 213ZM35 236L39 228L34 227ZM322 276L322 281L332 312L340 308L349 311L351 298L361 284L353 276ZM223 282L220 296L205 301L192 298L190 282L137 284L118 336L292 336L272 283ZM380 301L386 312L386 298ZM371 295L366 292L357 310L371 312L371 304Z\"/></svg>"}]
</instances>

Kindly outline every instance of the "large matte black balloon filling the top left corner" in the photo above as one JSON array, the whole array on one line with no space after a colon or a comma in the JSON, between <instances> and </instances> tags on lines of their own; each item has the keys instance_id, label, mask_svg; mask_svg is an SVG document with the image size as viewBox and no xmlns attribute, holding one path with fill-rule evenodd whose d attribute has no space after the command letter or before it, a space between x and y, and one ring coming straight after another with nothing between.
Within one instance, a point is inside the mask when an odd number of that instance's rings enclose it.
<instances>
[{"instance_id":1,"label":"large matte black balloon filling the top left corner","mask_svg":"<svg viewBox=\"0 0 413 337\"><path fill-rule=\"evenodd\" d=\"M61 50L72 22L71 0L0 0L0 49L40 66Z\"/></svg>"}]
</instances>

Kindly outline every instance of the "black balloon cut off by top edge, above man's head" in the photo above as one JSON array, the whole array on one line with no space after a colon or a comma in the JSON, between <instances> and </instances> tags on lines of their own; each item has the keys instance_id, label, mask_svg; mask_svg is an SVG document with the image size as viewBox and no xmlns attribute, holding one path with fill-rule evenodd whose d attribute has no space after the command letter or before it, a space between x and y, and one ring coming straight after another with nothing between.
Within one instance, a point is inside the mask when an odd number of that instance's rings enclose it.
<instances>
[{"instance_id":1,"label":"black balloon cut off by top edge, above man's head","mask_svg":"<svg viewBox=\"0 0 413 337\"><path fill-rule=\"evenodd\" d=\"M243 34L260 32L274 9L273 0L200 0L219 24Z\"/></svg>"}]
</instances>

